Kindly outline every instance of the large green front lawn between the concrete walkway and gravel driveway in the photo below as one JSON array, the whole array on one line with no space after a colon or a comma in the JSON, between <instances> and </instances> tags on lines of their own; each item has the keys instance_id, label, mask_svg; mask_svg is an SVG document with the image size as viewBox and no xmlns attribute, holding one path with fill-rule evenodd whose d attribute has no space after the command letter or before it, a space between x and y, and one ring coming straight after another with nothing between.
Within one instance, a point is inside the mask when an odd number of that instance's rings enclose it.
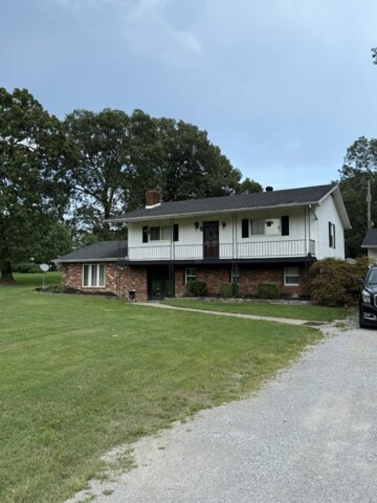
<instances>
[{"instance_id":1,"label":"large green front lawn between the concrete walkway and gravel driveway","mask_svg":"<svg viewBox=\"0 0 377 503\"><path fill-rule=\"evenodd\" d=\"M2 503L63 501L113 446L247 394L321 337L21 281L0 288Z\"/></svg>"}]
</instances>

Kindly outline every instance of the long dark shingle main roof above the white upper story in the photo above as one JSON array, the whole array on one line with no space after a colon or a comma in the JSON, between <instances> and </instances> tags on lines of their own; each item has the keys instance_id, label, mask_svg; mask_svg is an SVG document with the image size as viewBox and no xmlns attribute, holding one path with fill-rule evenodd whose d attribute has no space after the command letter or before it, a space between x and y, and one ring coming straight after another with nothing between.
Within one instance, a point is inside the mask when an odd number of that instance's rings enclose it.
<instances>
[{"instance_id":1,"label":"long dark shingle main roof above the white upper story","mask_svg":"<svg viewBox=\"0 0 377 503\"><path fill-rule=\"evenodd\" d=\"M272 192L258 192L255 194L241 194L239 196L208 197L206 199L186 199L161 203L155 208L141 208L125 213L111 220L127 220L145 217L161 217L191 213L216 212L224 210L241 210L243 208L264 208L270 206L284 206L292 204L314 203L322 199L336 184L302 187L300 189L286 189Z\"/></svg>"}]
</instances>

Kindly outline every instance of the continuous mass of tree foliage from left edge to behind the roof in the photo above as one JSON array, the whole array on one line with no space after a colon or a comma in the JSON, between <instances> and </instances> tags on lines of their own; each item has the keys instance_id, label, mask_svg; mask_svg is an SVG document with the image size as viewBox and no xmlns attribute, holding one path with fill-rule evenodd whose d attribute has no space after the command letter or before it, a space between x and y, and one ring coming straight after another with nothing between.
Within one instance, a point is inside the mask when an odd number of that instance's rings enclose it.
<instances>
[{"instance_id":1,"label":"continuous mass of tree foliage from left edge to behind the roof","mask_svg":"<svg viewBox=\"0 0 377 503\"><path fill-rule=\"evenodd\" d=\"M27 90L0 89L0 271L48 261L73 243L116 238L106 220L144 204L260 192L184 121L142 110L74 110L63 121ZM73 240L72 240L73 237ZM122 236L124 237L124 236Z\"/></svg>"}]
</instances>

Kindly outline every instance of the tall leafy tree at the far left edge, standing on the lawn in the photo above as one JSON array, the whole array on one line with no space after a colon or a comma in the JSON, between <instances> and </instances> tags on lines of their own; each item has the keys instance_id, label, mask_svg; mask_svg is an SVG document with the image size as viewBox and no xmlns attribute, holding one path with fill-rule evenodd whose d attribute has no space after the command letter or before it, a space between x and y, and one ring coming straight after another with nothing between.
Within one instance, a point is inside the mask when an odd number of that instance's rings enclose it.
<instances>
[{"instance_id":1,"label":"tall leafy tree at the far left edge, standing on the lawn","mask_svg":"<svg viewBox=\"0 0 377 503\"><path fill-rule=\"evenodd\" d=\"M27 90L0 89L0 274L12 262L48 256L48 237L69 200L70 149L60 121ZM55 250L56 251L56 247ZM52 252L53 253L53 252Z\"/></svg>"}]
</instances>

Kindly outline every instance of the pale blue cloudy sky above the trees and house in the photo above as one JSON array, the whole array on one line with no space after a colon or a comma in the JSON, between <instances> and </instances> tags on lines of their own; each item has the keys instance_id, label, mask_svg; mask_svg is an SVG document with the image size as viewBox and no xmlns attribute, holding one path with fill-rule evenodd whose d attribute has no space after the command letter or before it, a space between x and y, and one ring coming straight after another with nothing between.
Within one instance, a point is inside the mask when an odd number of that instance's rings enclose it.
<instances>
[{"instance_id":1,"label":"pale blue cloudy sky above the trees and house","mask_svg":"<svg viewBox=\"0 0 377 503\"><path fill-rule=\"evenodd\" d=\"M0 86L209 132L276 189L327 183L377 135L375 0L3 0Z\"/></svg>"}]
</instances>

